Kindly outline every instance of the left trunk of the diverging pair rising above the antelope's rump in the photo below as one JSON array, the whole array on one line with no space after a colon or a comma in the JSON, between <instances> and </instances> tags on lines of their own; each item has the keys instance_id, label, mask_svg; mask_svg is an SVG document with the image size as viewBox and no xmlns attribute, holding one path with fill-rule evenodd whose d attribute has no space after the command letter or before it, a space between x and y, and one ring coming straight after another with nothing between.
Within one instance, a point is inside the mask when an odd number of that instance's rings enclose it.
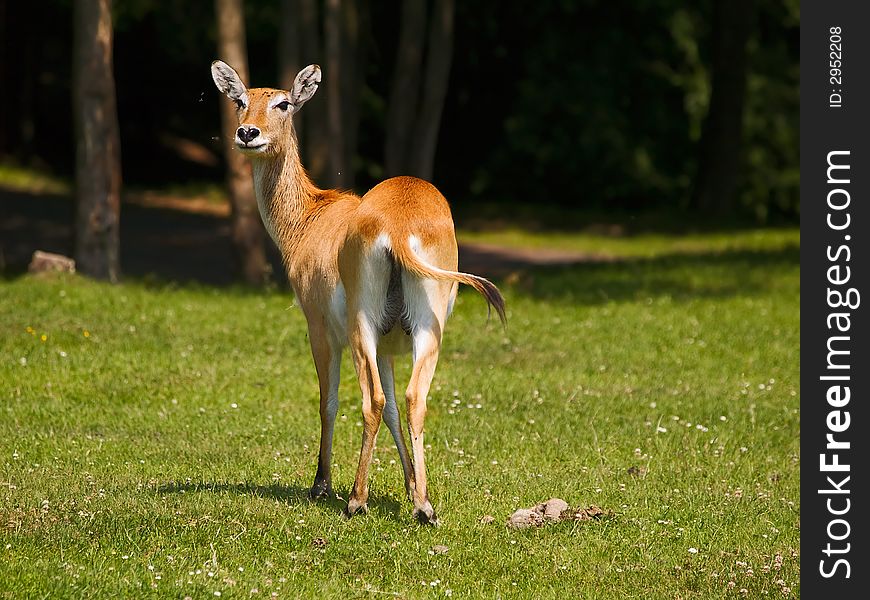
<instances>
[{"instance_id":1,"label":"left trunk of the diverging pair rising above the antelope's rump","mask_svg":"<svg viewBox=\"0 0 870 600\"><path fill-rule=\"evenodd\" d=\"M387 104L384 168L388 176L411 174L408 156L413 140L425 36L425 0L403 0L399 47Z\"/></svg>"}]
</instances>

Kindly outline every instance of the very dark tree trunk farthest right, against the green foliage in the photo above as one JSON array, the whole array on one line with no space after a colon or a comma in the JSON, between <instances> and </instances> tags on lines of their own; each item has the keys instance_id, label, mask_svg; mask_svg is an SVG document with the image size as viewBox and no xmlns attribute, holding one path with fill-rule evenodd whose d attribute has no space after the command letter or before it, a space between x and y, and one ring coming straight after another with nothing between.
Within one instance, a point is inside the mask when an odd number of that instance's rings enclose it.
<instances>
[{"instance_id":1,"label":"very dark tree trunk farthest right, against the green foliage","mask_svg":"<svg viewBox=\"0 0 870 600\"><path fill-rule=\"evenodd\" d=\"M713 3L710 109L700 142L694 205L712 214L733 209L742 166L746 46L755 15L753 0Z\"/></svg>"}]
</instances>

